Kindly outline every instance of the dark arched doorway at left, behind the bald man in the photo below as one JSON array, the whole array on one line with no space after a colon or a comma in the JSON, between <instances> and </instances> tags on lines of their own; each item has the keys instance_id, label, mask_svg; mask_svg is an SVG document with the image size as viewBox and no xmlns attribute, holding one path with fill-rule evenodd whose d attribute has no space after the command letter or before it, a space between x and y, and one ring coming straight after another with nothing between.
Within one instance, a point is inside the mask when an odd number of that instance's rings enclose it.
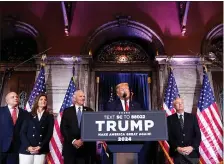
<instances>
[{"instance_id":1,"label":"dark arched doorway at left, behind the bald man","mask_svg":"<svg viewBox=\"0 0 224 164\"><path fill-rule=\"evenodd\" d=\"M1 20L0 36L1 105L5 105L5 95L15 91L20 96L20 107L23 108L36 76L33 56L43 48L40 35L29 24L4 17Z\"/></svg>"}]
</instances>

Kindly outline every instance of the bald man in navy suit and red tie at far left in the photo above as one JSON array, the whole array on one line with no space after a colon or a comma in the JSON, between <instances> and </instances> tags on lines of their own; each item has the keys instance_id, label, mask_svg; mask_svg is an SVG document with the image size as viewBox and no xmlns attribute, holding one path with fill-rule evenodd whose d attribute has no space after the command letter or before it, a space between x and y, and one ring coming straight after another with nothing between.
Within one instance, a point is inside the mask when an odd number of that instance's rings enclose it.
<instances>
[{"instance_id":1,"label":"bald man in navy suit and red tie at far left","mask_svg":"<svg viewBox=\"0 0 224 164\"><path fill-rule=\"evenodd\" d=\"M6 95L5 107L0 107L0 164L18 164L20 129L28 112L20 109L19 97L15 92Z\"/></svg>"}]
</instances>

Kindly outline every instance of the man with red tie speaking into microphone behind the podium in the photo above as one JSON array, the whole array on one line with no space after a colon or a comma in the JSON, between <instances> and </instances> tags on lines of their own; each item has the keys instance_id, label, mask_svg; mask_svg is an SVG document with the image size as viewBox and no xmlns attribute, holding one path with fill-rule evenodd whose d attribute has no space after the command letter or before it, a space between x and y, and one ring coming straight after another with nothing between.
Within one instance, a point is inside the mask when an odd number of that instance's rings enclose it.
<instances>
[{"instance_id":1,"label":"man with red tie speaking into microphone behind the podium","mask_svg":"<svg viewBox=\"0 0 224 164\"><path fill-rule=\"evenodd\" d=\"M139 103L131 99L128 83L120 83L116 86L119 99L107 104L105 111L140 111L143 110Z\"/></svg>"}]
</instances>

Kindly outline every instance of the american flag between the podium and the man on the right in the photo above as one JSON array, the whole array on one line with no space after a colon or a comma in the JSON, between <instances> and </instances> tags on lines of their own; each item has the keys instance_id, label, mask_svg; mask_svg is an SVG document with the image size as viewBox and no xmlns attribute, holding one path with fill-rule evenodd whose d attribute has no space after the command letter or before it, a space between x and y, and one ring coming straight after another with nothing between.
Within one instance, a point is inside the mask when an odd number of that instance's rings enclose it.
<instances>
[{"instance_id":1,"label":"american flag between the podium and the man on the right","mask_svg":"<svg viewBox=\"0 0 224 164\"><path fill-rule=\"evenodd\" d=\"M166 111L166 116L170 116L176 112L175 108L173 107L173 101L179 97L179 91L177 88L176 80L173 76L173 71L170 69L170 74L168 77L167 88L164 95L164 102L163 102L163 110ZM159 144L164 148L164 151L167 155L169 152L169 144L167 141L159 141Z\"/></svg>"}]
</instances>

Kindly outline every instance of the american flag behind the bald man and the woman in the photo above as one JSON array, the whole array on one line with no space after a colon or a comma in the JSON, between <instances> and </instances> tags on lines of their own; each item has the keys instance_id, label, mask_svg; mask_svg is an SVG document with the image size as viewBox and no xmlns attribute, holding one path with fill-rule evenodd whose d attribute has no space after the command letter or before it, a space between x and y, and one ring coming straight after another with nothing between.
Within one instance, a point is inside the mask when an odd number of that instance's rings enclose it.
<instances>
[{"instance_id":1,"label":"american flag behind the bald man and the woman","mask_svg":"<svg viewBox=\"0 0 224 164\"><path fill-rule=\"evenodd\" d=\"M40 94L40 93L46 93L46 84L45 84L45 69L44 66L41 66L40 68L40 73L36 79L34 88L30 94L30 97L27 101L26 107L25 109L30 112L33 106L33 103L36 99L36 97Z\"/></svg>"}]
</instances>

